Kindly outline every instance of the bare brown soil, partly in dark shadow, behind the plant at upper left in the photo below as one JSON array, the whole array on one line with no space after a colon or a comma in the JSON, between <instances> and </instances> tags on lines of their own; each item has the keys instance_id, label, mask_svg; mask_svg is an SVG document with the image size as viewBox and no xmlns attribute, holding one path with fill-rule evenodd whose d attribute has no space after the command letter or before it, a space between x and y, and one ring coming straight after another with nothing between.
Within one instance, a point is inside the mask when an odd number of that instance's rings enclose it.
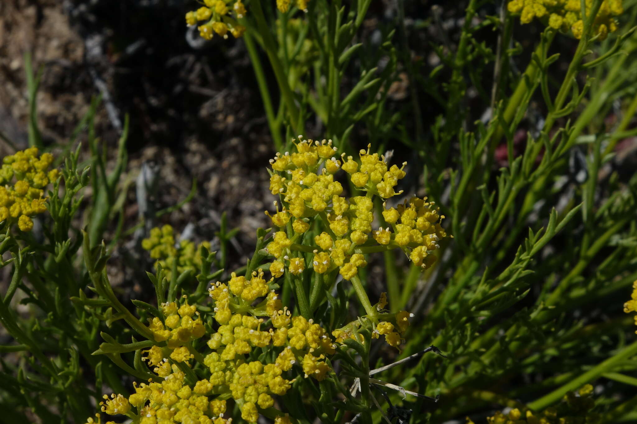
<instances>
[{"instance_id":1,"label":"bare brown soil, partly in dark shadow, behind the plant at upper left","mask_svg":"<svg viewBox=\"0 0 637 424\"><path fill-rule=\"evenodd\" d=\"M134 181L143 163L156 170L152 200L162 209L182 200L197 179L194 200L157 224L180 231L192 223L194 239L213 240L225 211L229 226L241 228L233 247L241 255L233 257L245 263L254 229L267 225L266 165L274 154L252 68L243 43L192 48L185 2L158 3L0 2L0 131L27 146L29 53L43 72L37 116L45 144L66 142L91 97L101 94L96 132L112 156L130 116L123 181ZM0 153L8 151L0 142ZM134 225L134 183L128 196L127 222Z\"/></svg>"}]
</instances>

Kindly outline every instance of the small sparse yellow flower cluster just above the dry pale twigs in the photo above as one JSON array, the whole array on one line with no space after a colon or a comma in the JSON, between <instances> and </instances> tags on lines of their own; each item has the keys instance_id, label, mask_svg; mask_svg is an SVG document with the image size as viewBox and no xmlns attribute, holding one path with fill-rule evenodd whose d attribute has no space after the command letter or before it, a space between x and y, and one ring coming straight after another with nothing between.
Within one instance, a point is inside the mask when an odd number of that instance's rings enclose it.
<instances>
[{"instance_id":1,"label":"small sparse yellow flower cluster just above the dry pale twigs","mask_svg":"<svg viewBox=\"0 0 637 424\"><path fill-rule=\"evenodd\" d=\"M399 349L399 345L404 340L402 335L409 327L409 319L413 318L413 313L407 311L398 311L397 313L389 313L385 310L387 306L387 293L381 293L378 303L375 307L380 314L378 319L382 320L375 325L374 331L371 333L373 339L378 339L380 336L385 336L385 341L388 345ZM368 317L369 319L369 317ZM364 343L364 339L359 336L358 329L361 327L361 320L355 320L345 325L340 329L336 329L332 332L337 343L343 343L347 338L351 338Z\"/></svg>"}]
</instances>

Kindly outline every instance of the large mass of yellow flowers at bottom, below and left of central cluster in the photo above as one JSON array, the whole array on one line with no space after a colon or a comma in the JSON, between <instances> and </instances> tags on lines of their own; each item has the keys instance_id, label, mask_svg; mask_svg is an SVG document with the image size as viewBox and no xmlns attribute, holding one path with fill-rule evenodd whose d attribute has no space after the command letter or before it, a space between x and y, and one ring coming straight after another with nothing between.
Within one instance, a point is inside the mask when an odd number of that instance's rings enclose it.
<instances>
[{"instance_id":1,"label":"large mass of yellow flowers at bottom, below and left of central cluster","mask_svg":"<svg viewBox=\"0 0 637 424\"><path fill-rule=\"evenodd\" d=\"M207 343L212 352L203 359L210 378L189 385L176 365L185 362L190 366L195 355L187 345L205 333L196 306L187 302L181 306L164 303L161 311L166 318L162 321L155 317L149 328L155 341L166 341L167 346L152 346L143 358L163 381L134 383L135 393L128 399L122 395L104 397L101 410L110 415L138 417L140 424L227 424L232 420L224 418L226 400L232 398L241 409L241 418L255 423L259 418L257 407L274 406L273 395L285 394L294 383L295 379L286 378L286 374L295 364L302 367L306 377L324 380L330 371L325 355L333 354L336 346L320 325L292 317L276 293L268 291L262 277L261 270L253 273L250 280L233 273L228 284L217 282L209 290L219 324ZM265 299L253 307L259 297ZM193 319L195 315L197 318ZM267 330L264 319L259 318L262 316L270 318L271 327ZM281 348L273 363L249 360L248 354L254 348L267 346ZM88 422L94 421L89 418ZM280 416L275 423L289 424L290 420Z\"/></svg>"}]
</instances>

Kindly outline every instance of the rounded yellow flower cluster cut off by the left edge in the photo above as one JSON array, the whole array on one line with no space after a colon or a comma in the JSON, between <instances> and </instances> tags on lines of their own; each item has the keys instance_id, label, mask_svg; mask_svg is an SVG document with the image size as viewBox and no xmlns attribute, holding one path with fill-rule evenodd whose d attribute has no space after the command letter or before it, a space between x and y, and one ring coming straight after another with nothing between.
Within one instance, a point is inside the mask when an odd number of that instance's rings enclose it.
<instances>
[{"instance_id":1,"label":"rounded yellow flower cluster cut off by the left edge","mask_svg":"<svg viewBox=\"0 0 637 424\"><path fill-rule=\"evenodd\" d=\"M31 217L47 210L44 188L59 177L50 153L38 157L38 148L31 147L4 156L0 168L0 221L17 222L21 231L31 231ZM15 177L16 182L11 186Z\"/></svg>"}]
</instances>

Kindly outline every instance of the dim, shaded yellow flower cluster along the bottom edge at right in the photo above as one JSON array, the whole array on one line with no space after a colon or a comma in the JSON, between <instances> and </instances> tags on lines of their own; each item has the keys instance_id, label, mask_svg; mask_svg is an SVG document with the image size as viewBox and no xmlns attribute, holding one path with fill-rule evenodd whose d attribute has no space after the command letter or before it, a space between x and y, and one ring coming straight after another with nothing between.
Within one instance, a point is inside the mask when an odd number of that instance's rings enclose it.
<instances>
[{"instance_id":1,"label":"dim, shaded yellow flower cluster along the bottom edge at right","mask_svg":"<svg viewBox=\"0 0 637 424\"><path fill-rule=\"evenodd\" d=\"M501 412L494 416L487 417L489 424L596 424L599 423L599 414L590 410L594 407L592 399L593 386L587 384L575 392L569 392L562 399L557 407L549 407L542 413L526 411L522 413L520 409L512 409L508 414ZM467 418L466 424L474 424Z\"/></svg>"}]
</instances>

